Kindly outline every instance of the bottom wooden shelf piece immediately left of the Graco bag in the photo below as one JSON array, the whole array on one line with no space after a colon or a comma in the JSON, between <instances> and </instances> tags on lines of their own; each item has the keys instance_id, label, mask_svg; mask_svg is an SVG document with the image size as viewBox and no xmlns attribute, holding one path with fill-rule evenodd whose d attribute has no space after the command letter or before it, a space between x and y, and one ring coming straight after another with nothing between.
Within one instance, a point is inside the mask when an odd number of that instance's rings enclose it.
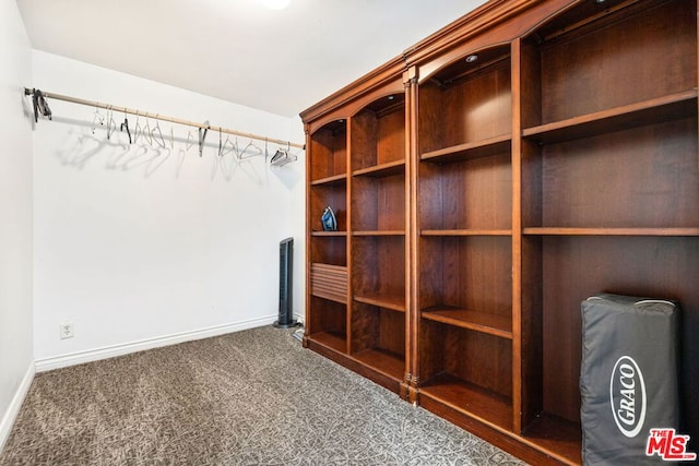
<instances>
[{"instance_id":1,"label":"bottom wooden shelf piece immediately left of the Graco bag","mask_svg":"<svg viewBox=\"0 0 699 466\"><path fill-rule=\"evenodd\" d=\"M582 431L579 423L543 414L526 428L524 439L561 463L580 464L582 461Z\"/></svg>"}]
</instances>

